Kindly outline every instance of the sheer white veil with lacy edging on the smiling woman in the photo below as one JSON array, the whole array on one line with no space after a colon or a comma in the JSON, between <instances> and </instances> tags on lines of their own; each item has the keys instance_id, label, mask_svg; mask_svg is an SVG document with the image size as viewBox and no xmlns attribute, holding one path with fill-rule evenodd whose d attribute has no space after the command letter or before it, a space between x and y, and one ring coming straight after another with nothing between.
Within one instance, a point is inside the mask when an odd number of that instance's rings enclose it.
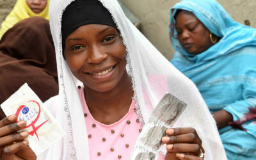
<instances>
[{"instance_id":1,"label":"sheer white veil with lacy edging on the smiling woman","mask_svg":"<svg viewBox=\"0 0 256 160\"><path fill-rule=\"evenodd\" d=\"M81 84L70 72L62 54L61 17L65 8L74 0L54 0L49 7L50 26L56 59L60 92L45 104L54 114L67 135L52 145L46 159L90 159L86 124L77 85ZM139 108L141 122L146 122L150 110L145 104L145 94L153 106L159 102L163 81L168 84L166 91L188 104L175 127L194 127L203 141L205 159L226 159L216 124L198 92L195 84L179 72L157 51L138 29L125 17L116 0L100 0L109 10L127 48L127 70L132 77L134 99ZM168 31L166 31L168 34ZM153 76L154 80L148 80ZM165 153L165 151L164 151Z\"/></svg>"}]
</instances>

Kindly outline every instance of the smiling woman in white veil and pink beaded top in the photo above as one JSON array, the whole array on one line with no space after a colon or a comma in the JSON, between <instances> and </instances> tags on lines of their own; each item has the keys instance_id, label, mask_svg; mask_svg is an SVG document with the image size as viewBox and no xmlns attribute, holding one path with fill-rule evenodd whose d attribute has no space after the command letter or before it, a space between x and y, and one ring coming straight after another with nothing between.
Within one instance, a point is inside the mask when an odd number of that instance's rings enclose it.
<instances>
[{"instance_id":1,"label":"smiling woman in white veil and pink beaded top","mask_svg":"<svg viewBox=\"0 0 256 160\"><path fill-rule=\"evenodd\" d=\"M195 85L132 25L116 0L55 0L49 13L60 93L45 105L67 136L38 159L129 159L166 92L187 107L166 130L166 148L156 159L204 159L204 150L207 159L226 159ZM26 126L15 120L11 115L0 122L1 157L35 158L24 140L28 133L13 135Z\"/></svg>"}]
</instances>

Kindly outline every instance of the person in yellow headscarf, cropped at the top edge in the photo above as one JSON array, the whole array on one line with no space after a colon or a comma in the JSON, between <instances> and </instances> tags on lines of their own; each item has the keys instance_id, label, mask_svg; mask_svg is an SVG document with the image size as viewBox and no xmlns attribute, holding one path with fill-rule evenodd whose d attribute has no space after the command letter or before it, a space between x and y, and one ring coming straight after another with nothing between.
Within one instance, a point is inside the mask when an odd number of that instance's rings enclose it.
<instances>
[{"instance_id":1,"label":"person in yellow headscarf, cropped at the top edge","mask_svg":"<svg viewBox=\"0 0 256 160\"><path fill-rule=\"evenodd\" d=\"M8 29L22 19L38 16L49 20L49 2L50 0L17 0L12 12L1 24L0 40Z\"/></svg>"}]
</instances>

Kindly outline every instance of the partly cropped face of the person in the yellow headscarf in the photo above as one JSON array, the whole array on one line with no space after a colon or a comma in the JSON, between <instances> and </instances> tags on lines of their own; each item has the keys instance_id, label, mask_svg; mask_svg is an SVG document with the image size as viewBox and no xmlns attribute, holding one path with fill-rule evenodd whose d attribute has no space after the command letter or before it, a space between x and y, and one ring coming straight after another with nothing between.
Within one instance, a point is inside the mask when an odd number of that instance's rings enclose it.
<instances>
[{"instance_id":1,"label":"partly cropped face of the person in the yellow headscarf","mask_svg":"<svg viewBox=\"0 0 256 160\"><path fill-rule=\"evenodd\" d=\"M36 14L41 13L47 6L47 0L26 0L28 7Z\"/></svg>"}]
</instances>

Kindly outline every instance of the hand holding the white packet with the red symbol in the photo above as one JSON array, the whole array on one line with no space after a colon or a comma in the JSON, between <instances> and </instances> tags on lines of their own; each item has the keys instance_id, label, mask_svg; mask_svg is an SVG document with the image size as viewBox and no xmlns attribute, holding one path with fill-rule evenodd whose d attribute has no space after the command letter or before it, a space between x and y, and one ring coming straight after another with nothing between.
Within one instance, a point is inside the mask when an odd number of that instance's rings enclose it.
<instances>
[{"instance_id":1,"label":"hand holding the white packet with the red symbol","mask_svg":"<svg viewBox=\"0 0 256 160\"><path fill-rule=\"evenodd\" d=\"M17 120L16 115L11 115L0 121L0 159L36 159L36 155L28 147L27 131L17 132L26 127L26 122Z\"/></svg>"}]
</instances>

